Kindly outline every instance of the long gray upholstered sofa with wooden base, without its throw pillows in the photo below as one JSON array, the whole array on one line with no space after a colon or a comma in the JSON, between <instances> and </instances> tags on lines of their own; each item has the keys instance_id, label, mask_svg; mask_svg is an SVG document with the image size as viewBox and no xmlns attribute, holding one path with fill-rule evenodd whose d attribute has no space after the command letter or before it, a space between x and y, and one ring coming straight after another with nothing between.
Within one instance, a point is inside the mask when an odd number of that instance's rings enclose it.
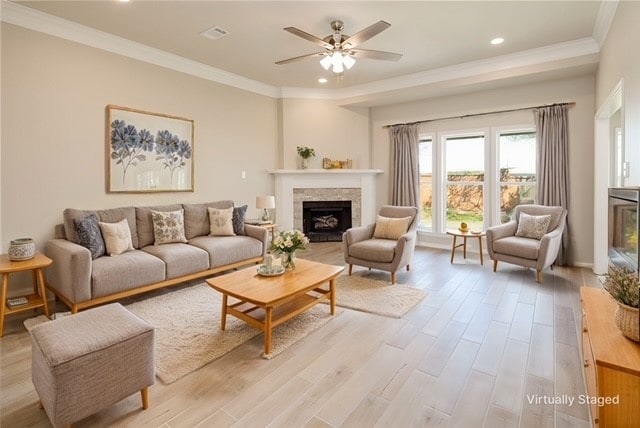
<instances>
[{"instance_id":1,"label":"long gray upholstered sofa with wooden base, without its throw pillows","mask_svg":"<svg viewBox=\"0 0 640 428\"><path fill-rule=\"evenodd\" d=\"M233 207L233 201L64 211L64 224L44 252L53 259L45 270L47 288L72 312L135 294L262 262L268 243L265 228L244 225L244 234L209 236L208 208ZM186 243L154 245L152 211L184 210ZM79 244L74 220L94 214L100 222L127 219L134 247L117 256L92 259Z\"/></svg>"}]
</instances>

